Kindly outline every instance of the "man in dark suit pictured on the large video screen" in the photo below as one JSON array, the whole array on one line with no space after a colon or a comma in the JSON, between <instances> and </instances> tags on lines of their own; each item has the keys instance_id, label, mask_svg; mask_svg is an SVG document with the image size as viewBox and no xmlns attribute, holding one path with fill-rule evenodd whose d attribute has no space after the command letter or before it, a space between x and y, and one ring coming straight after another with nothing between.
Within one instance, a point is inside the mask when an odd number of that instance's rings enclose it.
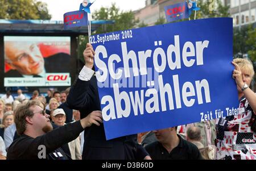
<instances>
[{"instance_id":1,"label":"man in dark suit pictured on the large video screen","mask_svg":"<svg viewBox=\"0 0 256 171\"><path fill-rule=\"evenodd\" d=\"M11 68L5 77L44 77L44 73L64 73L69 71L69 60L67 53L56 53L44 58L38 45L29 41L5 43L5 62ZM65 62L59 65L60 61Z\"/></svg>"}]
</instances>

